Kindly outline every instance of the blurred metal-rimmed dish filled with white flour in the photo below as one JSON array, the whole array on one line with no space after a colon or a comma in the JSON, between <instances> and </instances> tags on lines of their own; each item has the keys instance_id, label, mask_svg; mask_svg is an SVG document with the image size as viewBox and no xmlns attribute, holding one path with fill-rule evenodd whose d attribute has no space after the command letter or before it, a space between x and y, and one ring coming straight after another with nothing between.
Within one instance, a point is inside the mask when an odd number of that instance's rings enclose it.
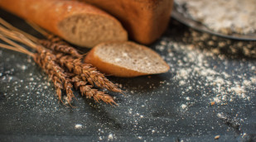
<instances>
[{"instance_id":1,"label":"blurred metal-rimmed dish filled with white flour","mask_svg":"<svg viewBox=\"0 0 256 142\"><path fill-rule=\"evenodd\" d=\"M256 40L255 0L175 0L172 17L215 35Z\"/></svg>"}]
</instances>

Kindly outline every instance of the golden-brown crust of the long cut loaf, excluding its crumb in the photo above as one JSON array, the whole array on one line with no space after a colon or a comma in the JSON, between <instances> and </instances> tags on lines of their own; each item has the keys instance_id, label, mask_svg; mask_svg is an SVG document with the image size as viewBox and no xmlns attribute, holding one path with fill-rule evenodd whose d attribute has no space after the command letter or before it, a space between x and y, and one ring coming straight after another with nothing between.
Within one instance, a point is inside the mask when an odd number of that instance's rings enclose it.
<instances>
[{"instance_id":1,"label":"golden-brown crust of the long cut loaf, excluding its crumb","mask_svg":"<svg viewBox=\"0 0 256 142\"><path fill-rule=\"evenodd\" d=\"M63 1L63 0L0 0L0 7L12 12L27 21L33 21L48 31L70 41L75 45L83 45L74 43L60 31L59 24L67 17L77 16L80 14L97 15L107 17L123 29L121 23L108 13L97 7L91 6L84 2ZM122 35L123 34L123 35ZM126 36L127 33L123 29L120 35Z\"/></svg>"}]
</instances>

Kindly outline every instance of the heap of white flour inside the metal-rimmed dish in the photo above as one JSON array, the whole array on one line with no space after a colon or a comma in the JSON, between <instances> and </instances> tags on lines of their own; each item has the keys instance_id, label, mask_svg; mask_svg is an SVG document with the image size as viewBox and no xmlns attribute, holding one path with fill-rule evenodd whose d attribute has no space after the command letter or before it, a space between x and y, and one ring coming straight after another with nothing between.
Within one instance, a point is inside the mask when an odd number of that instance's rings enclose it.
<instances>
[{"instance_id":1,"label":"heap of white flour inside the metal-rimmed dish","mask_svg":"<svg viewBox=\"0 0 256 142\"><path fill-rule=\"evenodd\" d=\"M255 0L175 0L179 12L224 34L249 34L256 31Z\"/></svg>"}]
</instances>

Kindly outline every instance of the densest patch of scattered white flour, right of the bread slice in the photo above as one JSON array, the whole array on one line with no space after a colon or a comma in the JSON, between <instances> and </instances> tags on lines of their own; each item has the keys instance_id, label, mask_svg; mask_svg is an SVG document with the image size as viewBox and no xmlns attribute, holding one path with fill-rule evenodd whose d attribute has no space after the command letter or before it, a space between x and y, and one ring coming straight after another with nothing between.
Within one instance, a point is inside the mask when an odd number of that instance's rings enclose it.
<instances>
[{"instance_id":1,"label":"densest patch of scattered white flour, right of the bread slice","mask_svg":"<svg viewBox=\"0 0 256 142\"><path fill-rule=\"evenodd\" d=\"M232 43L230 40L222 41L216 36L197 31L185 33L183 42L176 42L171 38L163 40L162 43L166 44L160 46L166 48L165 59L171 67L170 73L175 74L170 80L176 81L187 102L198 95L191 92L200 92L204 99L220 105L234 102L237 98L247 101L251 99L251 92L256 85L255 64L248 64L244 59L239 59L240 63L236 64L232 55L235 57L244 48L249 50L248 53L243 52L245 56L256 57L255 50L250 49L255 42ZM157 47L157 50L165 52L162 47ZM225 52L230 57L225 56L224 50L230 51ZM245 69L247 73L244 73ZM181 108L187 108L187 104L182 104Z\"/></svg>"}]
</instances>

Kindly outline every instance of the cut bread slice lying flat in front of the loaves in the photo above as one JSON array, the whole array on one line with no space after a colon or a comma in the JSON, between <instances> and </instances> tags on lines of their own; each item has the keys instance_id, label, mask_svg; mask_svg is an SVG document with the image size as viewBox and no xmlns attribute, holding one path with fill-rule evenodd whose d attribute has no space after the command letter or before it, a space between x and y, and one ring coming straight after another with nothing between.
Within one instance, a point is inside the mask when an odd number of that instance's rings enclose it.
<instances>
[{"instance_id":1,"label":"cut bread slice lying flat in front of the loaves","mask_svg":"<svg viewBox=\"0 0 256 142\"><path fill-rule=\"evenodd\" d=\"M170 69L154 50L130 41L97 45L86 55L85 62L117 77L166 73Z\"/></svg>"}]
</instances>

